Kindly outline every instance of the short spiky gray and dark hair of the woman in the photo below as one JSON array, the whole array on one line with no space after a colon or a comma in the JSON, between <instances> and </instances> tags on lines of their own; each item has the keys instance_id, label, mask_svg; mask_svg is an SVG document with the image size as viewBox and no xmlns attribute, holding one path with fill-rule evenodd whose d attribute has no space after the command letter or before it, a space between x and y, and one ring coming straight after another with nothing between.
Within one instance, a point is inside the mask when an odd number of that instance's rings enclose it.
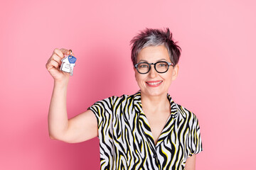
<instances>
[{"instance_id":1,"label":"short spiky gray and dark hair of the woman","mask_svg":"<svg viewBox=\"0 0 256 170\"><path fill-rule=\"evenodd\" d=\"M169 28L166 28L166 30L146 28L130 41L132 45L132 64L137 64L137 55L143 48L164 45L168 50L171 62L175 66L181 56L181 47L176 43Z\"/></svg>"}]
</instances>

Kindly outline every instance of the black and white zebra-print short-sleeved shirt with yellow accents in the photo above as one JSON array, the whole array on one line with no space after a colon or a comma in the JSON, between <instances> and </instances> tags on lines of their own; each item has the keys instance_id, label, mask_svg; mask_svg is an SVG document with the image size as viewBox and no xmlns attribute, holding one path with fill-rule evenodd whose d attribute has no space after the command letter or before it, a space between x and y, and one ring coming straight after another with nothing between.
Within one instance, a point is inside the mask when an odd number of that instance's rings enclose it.
<instances>
[{"instance_id":1,"label":"black and white zebra-print short-sleeved shirt with yellow accents","mask_svg":"<svg viewBox=\"0 0 256 170\"><path fill-rule=\"evenodd\" d=\"M142 111L140 91L97 101L89 109L97 118L101 169L184 169L186 159L202 149L196 115L171 103L171 115L154 145Z\"/></svg>"}]
</instances>

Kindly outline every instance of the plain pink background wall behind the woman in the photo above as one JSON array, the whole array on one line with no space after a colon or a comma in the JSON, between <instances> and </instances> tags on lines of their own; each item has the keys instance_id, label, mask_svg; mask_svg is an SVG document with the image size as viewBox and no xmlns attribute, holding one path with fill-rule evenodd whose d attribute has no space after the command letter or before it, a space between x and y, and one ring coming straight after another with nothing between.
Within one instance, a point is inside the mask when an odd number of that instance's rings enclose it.
<instances>
[{"instance_id":1,"label":"plain pink background wall behind the woman","mask_svg":"<svg viewBox=\"0 0 256 170\"><path fill-rule=\"evenodd\" d=\"M169 93L196 113L197 169L256 169L255 1L1 1L0 169L99 169L97 138L48 137L55 47L78 58L68 116L97 100L138 90L129 40L169 27L182 48ZM97 66L98 70L95 70Z\"/></svg>"}]
</instances>

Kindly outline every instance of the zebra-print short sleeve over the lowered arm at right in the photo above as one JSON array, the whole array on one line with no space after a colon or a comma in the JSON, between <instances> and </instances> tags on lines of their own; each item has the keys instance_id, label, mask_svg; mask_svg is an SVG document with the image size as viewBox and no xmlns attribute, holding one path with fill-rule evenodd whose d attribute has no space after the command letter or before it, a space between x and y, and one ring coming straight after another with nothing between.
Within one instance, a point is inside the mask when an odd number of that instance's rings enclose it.
<instances>
[{"instance_id":1,"label":"zebra-print short sleeve over the lowered arm at right","mask_svg":"<svg viewBox=\"0 0 256 170\"><path fill-rule=\"evenodd\" d=\"M200 133L200 127L198 118L196 118L196 115L192 115L192 121L191 121L191 130L190 130L190 140L189 140L189 147L190 147L190 153L189 157L191 157L193 154L198 154L203 151L202 147L202 140L201 140L201 133Z\"/></svg>"}]
</instances>

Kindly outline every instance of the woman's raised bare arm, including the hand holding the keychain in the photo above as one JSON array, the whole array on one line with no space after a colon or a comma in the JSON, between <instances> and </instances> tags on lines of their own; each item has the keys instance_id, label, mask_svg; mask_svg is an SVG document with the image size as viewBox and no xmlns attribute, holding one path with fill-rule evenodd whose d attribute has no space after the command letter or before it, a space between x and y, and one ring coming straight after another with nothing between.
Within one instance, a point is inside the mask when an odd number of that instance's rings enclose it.
<instances>
[{"instance_id":1,"label":"woman's raised bare arm, including the hand holding the keychain","mask_svg":"<svg viewBox=\"0 0 256 170\"><path fill-rule=\"evenodd\" d=\"M69 55L68 50L55 49L46 64L48 72L54 79L48 113L48 131L52 139L64 142L82 142L97 136L97 119L89 110L68 120L66 103L70 74L59 69L65 55Z\"/></svg>"}]
</instances>

